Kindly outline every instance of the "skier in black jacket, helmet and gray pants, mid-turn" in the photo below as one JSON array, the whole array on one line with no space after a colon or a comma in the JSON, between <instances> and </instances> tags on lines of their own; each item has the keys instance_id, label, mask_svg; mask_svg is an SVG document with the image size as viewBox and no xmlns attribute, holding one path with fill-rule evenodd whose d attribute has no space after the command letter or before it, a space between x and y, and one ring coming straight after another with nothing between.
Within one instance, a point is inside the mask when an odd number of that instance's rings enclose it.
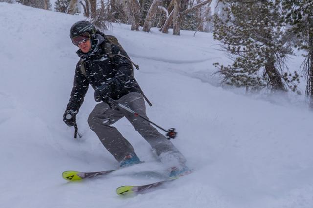
<instances>
[{"instance_id":1,"label":"skier in black jacket, helmet and gray pants, mid-turn","mask_svg":"<svg viewBox=\"0 0 313 208\"><path fill-rule=\"evenodd\" d=\"M151 145L159 159L168 165L170 177L189 172L184 156L164 135L148 121L125 109L117 108L109 101L116 100L148 119L143 93L132 75L132 63L126 52L118 45L110 43L113 58L111 61L110 54L105 50L106 43L109 43L107 37L88 21L76 22L70 29L70 38L72 43L79 47L76 53L81 60L76 65L74 84L63 121L68 126L76 124L76 114L90 84L94 89L95 101L100 103L90 113L88 124L104 147L119 162L120 168L141 163L133 146L111 126L125 116Z\"/></svg>"}]
</instances>

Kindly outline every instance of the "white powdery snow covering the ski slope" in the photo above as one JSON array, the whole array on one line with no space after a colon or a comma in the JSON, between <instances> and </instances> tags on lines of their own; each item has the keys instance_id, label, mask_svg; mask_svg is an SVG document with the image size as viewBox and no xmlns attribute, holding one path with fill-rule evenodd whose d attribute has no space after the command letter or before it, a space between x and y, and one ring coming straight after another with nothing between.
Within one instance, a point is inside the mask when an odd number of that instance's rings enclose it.
<instances>
[{"instance_id":1,"label":"white powdery snow covering the ski slope","mask_svg":"<svg viewBox=\"0 0 313 208\"><path fill-rule=\"evenodd\" d=\"M153 107L150 119L175 127L175 146L194 172L134 198L116 195L122 185L156 179L125 176L162 170L150 146L126 119L115 126L145 163L109 176L67 182L65 170L118 167L89 129L95 105L90 88L78 114L79 132L62 115L72 87L76 47L70 26L82 16L0 3L0 207L1 208L312 208L313 114L303 96L244 95L211 76L214 62L227 63L212 34L181 36L130 31L115 35L140 65L135 77ZM291 57L296 70L303 58ZM304 83L300 86L302 92Z\"/></svg>"}]
</instances>

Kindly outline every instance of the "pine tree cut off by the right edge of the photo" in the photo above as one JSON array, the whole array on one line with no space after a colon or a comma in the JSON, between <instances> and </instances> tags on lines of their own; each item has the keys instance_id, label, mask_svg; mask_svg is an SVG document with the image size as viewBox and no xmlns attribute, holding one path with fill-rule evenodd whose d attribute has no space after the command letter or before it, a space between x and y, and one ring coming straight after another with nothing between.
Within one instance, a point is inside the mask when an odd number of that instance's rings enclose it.
<instances>
[{"instance_id":1,"label":"pine tree cut off by the right edge of the photo","mask_svg":"<svg viewBox=\"0 0 313 208\"><path fill-rule=\"evenodd\" d=\"M290 24L291 31L297 37L298 49L307 51L303 69L307 78L306 95L313 109L313 1L283 0L285 21Z\"/></svg>"}]
</instances>

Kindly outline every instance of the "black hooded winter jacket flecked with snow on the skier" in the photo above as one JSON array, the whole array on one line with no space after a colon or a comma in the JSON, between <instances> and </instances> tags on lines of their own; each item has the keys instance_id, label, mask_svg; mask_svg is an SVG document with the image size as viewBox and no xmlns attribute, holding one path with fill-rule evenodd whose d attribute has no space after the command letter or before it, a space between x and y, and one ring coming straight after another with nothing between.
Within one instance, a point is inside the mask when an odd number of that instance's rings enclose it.
<instances>
[{"instance_id":1,"label":"black hooded winter jacket flecked with snow on the skier","mask_svg":"<svg viewBox=\"0 0 313 208\"><path fill-rule=\"evenodd\" d=\"M84 62L86 76L82 73L80 62L78 62L67 109L79 110L89 84L93 89L104 83L110 84L113 93L108 96L112 99L119 99L130 92L142 92L134 76L132 76L132 63L121 56L114 56L114 63L112 63L108 54L104 51L106 41L105 37L96 34L96 38L91 41L93 50L86 54L82 53L81 50L76 52ZM124 51L121 51L117 45L112 43L111 51L112 54L127 56Z\"/></svg>"}]
</instances>

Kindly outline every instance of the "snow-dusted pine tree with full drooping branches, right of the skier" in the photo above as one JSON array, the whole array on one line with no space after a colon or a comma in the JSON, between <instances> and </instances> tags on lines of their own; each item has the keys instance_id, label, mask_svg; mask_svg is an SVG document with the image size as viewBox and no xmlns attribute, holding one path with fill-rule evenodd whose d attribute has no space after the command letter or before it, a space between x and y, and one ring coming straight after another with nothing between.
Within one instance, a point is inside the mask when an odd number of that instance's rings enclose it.
<instances>
[{"instance_id":1,"label":"snow-dusted pine tree with full drooping branches, right of the skier","mask_svg":"<svg viewBox=\"0 0 313 208\"><path fill-rule=\"evenodd\" d=\"M298 74L283 73L284 60L292 54L280 21L281 6L272 0L221 0L223 14L214 16L215 39L233 60L215 63L222 82L250 89L269 87L296 90Z\"/></svg>"}]
</instances>

